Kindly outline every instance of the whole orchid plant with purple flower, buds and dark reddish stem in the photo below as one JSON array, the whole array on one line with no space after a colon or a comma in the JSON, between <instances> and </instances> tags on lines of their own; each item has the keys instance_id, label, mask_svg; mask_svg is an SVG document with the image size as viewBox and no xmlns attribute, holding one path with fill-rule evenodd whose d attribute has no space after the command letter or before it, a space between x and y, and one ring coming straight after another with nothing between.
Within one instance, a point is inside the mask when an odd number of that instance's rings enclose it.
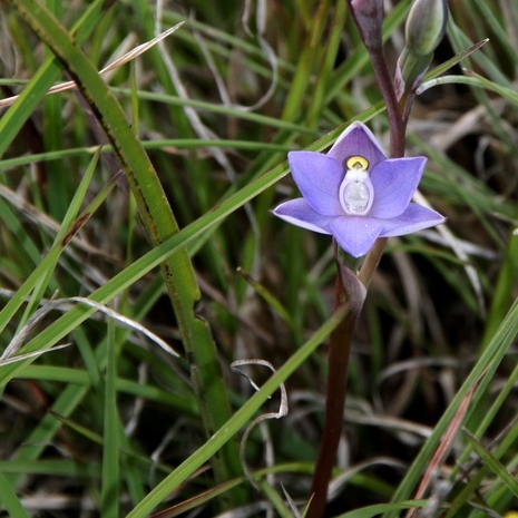
<instances>
[{"instance_id":1,"label":"whole orchid plant with purple flower, buds and dark reddish stem","mask_svg":"<svg viewBox=\"0 0 518 518\"><path fill-rule=\"evenodd\" d=\"M411 203L427 159L404 157L405 127L419 87L446 30L447 0L414 0L407 20L407 45L389 72L382 48L382 0L348 0L384 98L390 125L388 158L361 121L351 124L328 154L291 152L293 179L302 198L278 205L273 214L300 227L329 234L352 257L365 256L352 272L338 254L335 310L346 307L330 336L325 421L313 476L309 518L321 518L342 430L349 351L366 289L388 237L401 236L446 221Z\"/></svg>"}]
</instances>

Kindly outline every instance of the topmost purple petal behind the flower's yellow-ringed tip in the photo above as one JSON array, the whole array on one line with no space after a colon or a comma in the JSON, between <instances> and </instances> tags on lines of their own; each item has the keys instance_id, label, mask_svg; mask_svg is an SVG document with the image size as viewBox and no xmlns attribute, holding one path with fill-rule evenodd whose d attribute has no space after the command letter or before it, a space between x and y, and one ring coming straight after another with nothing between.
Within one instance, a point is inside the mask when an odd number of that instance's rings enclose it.
<instances>
[{"instance_id":1,"label":"topmost purple petal behind the flower's yellow-ringed tip","mask_svg":"<svg viewBox=\"0 0 518 518\"><path fill-rule=\"evenodd\" d=\"M366 158L371 168L387 159L372 131L360 121L351 124L328 153L341 164L354 155Z\"/></svg>"}]
</instances>

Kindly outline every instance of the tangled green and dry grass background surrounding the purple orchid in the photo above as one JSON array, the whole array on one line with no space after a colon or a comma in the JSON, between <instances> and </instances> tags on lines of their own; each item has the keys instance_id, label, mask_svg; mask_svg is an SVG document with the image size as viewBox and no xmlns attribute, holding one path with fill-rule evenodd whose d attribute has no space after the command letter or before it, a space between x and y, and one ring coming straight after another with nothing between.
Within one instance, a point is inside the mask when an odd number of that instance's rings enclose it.
<instances>
[{"instance_id":1,"label":"tangled green and dry grass background surrounding the purple orchid","mask_svg":"<svg viewBox=\"0 0 518 518\"><path fill-rule=\"evenodd\" d=\"M392 70L410 2L393 3ZM433 66L490 41L469 72L430 72L408 135L429 158L418 202L448 224L390 241L372 283L329 516L517 508L518 7L450 9ZM289 150L324 150L354 119L387 144L345 2L0 10L1 516L296 516L340 315L329 238L268 211L294 194ZM276 370L250 368L255 394L242 359ZM243 446L254 487L240 439L283 382L289 416Z\"/></svg>"}]
</instances>

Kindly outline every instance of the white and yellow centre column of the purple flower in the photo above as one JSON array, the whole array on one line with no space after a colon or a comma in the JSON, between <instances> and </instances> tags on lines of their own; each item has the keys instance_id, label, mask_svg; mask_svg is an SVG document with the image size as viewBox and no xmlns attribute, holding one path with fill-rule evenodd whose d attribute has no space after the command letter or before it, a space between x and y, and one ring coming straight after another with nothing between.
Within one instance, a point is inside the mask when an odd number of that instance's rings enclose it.
<instances>
[{"instance_id":1,"label":"white and yellow centre column of the purple flower","mask_svg":"<svg viewBox=\"0 0 518 518\"><path fill-rule=\"evenodd\" d=\"M340 186L340 202L348 214L362 216L369 212L374 199L369 160L362 156L352 156L345 165L348 170Z\"/></svg>"}]
</instances>

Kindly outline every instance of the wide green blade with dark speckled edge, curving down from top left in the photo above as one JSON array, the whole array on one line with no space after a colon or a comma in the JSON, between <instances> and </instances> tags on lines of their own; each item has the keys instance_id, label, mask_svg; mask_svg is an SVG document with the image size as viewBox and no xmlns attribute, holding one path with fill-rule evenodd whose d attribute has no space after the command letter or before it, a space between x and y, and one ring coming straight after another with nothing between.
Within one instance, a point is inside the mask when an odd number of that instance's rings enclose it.
<instances>
[{"instance_id":1,"label":"wide green blade with dark speckled edge, curving down from top left","mask_svg":"<svg viewBox=\"0 0 518 518\"><path fill-rule=\"evenodd\" d=\"M10 3L55 52L96 114L126 174L154 245L177 233L178 225L156 172L96 68L41 4L31 0L12 0ZM231 416L216 348L207 323L195 314L201 295L186 250L178 250L162 267L186 354L193 365L193 385L209 437ZM236 444L228 442L221 453L223 460L215 459L214 468L219 481L241 471L236 452Z\"/></svg>"}]
</instances>

